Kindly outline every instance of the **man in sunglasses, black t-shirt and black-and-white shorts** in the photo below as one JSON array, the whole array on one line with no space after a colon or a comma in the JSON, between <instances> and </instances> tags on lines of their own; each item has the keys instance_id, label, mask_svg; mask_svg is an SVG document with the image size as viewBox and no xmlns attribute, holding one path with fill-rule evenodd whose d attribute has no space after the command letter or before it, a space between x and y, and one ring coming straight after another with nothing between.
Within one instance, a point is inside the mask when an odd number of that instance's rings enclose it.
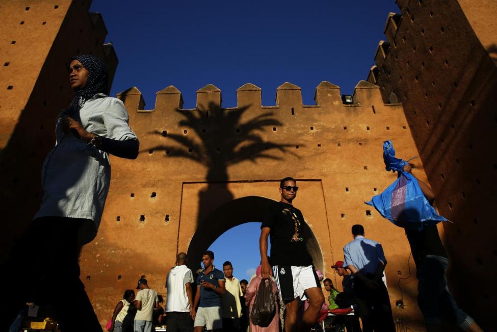
<instances>
[{"instance_id":1,"label":"man in sunglasses, black t-shirt and black-and-white shorts","mask_svg":"<svg viewBox=\"0 0 497 332\"><path fill-rule=\"evenodd\" d=\"M260 226L261 276L269 278L273 266L273 275L286 308L286 332L310 331L316 324L324 302L321 284L306 247L309 227L300 210L292 205L297 189L297 183L292 177L283 178L279 188L281 200L268 208ZM271 262L268 260L268 236L271 241ZM309 299L310 305L302 317L302 326L298 328L299 299L305 298Z\"/></svg>"}]
</instances>

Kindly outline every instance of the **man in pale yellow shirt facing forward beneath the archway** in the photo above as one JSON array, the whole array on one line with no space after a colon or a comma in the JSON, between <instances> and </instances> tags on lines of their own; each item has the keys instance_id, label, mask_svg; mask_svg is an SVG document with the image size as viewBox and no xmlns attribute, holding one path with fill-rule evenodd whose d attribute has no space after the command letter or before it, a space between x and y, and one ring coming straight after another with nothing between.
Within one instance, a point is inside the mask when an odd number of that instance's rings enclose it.
<instances>
[{"instance_id":1,"label":"man in pale yellow shirt facing forward beneath the archway","mask_svg":"<svg viewBox=\"0 0 497 332\"><path fill-rule=\"evenodd\" d=\"M223 331L240 331L240 317L242 316L240 296L243 295L240 281L233 276L231 262L224 262L223 272L226 277L226 293L222 295Z\"/></svg>"}]
</instances>

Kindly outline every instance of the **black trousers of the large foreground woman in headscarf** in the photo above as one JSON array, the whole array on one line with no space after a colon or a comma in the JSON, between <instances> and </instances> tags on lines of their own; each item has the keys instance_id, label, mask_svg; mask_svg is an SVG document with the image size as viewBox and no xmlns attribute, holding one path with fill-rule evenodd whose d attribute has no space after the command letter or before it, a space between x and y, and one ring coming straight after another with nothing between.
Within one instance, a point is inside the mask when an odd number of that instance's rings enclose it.
<instances>
[{"instance_id":1,"label":"black trousers of the large foreground woman in headscarf","mask_svg":"<svg viewBox=\"0 0 497 332\"><path fill-rule=\"evenodd\" d=\"M27 301L51 305L61 331L102 331L80 280L77 231L84 220L33 220L2 264L0 330L7 331Z\"/></svg>"}]
</instances>

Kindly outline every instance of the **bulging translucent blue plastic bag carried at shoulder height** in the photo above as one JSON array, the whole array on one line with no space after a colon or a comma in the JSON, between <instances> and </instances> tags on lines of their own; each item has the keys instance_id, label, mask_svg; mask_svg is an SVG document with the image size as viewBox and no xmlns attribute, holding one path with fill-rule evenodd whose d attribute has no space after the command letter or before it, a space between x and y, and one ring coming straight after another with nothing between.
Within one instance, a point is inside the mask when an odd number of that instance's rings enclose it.
<instances>
[{"instance_id":1,"label":"bulging translucent blue plastic bag carried at shoulder height","mask_svg":"<svg viewBox=\"0 0 497 332\"><path fill-rule=\"evenodd\" d=\"M421 231L427 225L447 221L430 205L416 178L402 170L407 162L395 158L395 150L391 141L385 141L383 149L386 170L398 171L400 176L381 194L365 203L373 206L384 218L395 225L416 231Z\"/></svg>"}]
</instances>

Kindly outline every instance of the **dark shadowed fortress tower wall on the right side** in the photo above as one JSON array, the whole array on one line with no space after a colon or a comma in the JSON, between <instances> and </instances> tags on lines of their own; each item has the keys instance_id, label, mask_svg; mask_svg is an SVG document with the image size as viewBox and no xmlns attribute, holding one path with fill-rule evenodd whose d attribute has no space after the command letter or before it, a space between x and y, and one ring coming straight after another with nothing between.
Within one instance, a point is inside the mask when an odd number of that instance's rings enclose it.
<instances>
[{"instance_id":1,"label":"dark shadowed fortress tower wall on the right side","mask_svg":"<svg viewBox=\"0 0 497 332\"><path fill-rule=\"evenodd\" d=\"M497 159L488 149L497 126L497 4L398 5L401 15L388 15L388 42L380 42L368 80L380 86L383 100L402 102L437 206L453 222L444 224L443 239L451 257L451 290L485 327L490 320L484 313L495 308L497 296L490 208Z\"/></svg>"}]
</instances>

